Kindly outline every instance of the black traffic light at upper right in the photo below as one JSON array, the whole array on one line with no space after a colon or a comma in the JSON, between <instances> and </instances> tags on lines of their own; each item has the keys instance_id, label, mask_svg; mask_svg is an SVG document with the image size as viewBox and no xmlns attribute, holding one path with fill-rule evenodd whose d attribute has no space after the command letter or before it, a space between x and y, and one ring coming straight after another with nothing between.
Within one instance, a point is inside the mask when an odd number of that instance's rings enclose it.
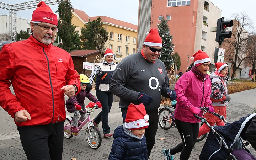
<instances>
[{"instance_id":1,"label":"black traffic light at upper right","mask_svg":"<svg viewBox=\"0 0 256 160\"><path fill-rule=\"evenodd\" d=\"M225 38L230 38L232 36L232 31L225 32L226 27L233 26L233 20L224 20L219 18L217 21L217 31L216 31L216 42L224 42Z\"/></svg>"}]
</instances>

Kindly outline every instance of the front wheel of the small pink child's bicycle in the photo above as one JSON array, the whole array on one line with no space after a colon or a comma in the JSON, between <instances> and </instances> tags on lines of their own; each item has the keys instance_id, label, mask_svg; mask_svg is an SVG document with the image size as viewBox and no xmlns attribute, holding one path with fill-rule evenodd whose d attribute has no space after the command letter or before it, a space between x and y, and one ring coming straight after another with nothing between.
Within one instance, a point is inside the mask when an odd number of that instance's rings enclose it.
<instances>
[{"instance_id":1,"label":"front wheel of the small pink child's bicycle","mask_svg":"<svg viewBox=\"0 0 256 160\"><path fill-rule=\"evenodd\" d=\"M89 129L90 129L91 135L89 133ZM100 131L95 126L90 126L89 129L87 127L85 131L86 142L89 144L91 148L97 149L101 145Z\"/></svg>"}]
</instances>

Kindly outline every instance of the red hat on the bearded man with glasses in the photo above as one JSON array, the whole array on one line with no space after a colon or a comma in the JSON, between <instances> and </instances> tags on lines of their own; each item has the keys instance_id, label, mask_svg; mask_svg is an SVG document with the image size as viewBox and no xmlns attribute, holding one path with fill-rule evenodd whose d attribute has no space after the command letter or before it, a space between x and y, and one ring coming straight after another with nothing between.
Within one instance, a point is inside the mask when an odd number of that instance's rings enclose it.
<instances>
[{"instance_id":1,"label":"red hat on the bearded man with glasses","mask_svg":"<svg viewBox=\"0 0 256 160\"><path fill-rule=\"evenodd\" d=\"M31 21L33 23L46 22L58 26L57 15L53 13L52 9L44 1L39 2L37 7L32 14Z\"/></svg>"}]
</instances>

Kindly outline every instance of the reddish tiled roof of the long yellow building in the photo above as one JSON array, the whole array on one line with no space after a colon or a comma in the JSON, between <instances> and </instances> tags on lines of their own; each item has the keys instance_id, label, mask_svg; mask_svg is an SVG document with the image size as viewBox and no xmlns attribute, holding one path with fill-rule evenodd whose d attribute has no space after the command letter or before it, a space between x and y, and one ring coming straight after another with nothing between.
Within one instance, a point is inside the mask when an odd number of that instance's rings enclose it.
<instances>
[{"instance_id":1,"label":"reddish tiled roof of the long yellow building","mask_svg":"<svg viewBox=\"0 0 256 160\"><path fill-rule=\"evenodd\" d=\"M113 25L129 28L129 29L137 31L137 25L133 25L132 23L127 23L127 22L124 22L124 21L116 20L114 18L110 18L110 17L107 17L107 16L89 17L84 11L77 10L77 9L74 9L74 12L75 12L76 15L78 15L85 22L88 22L89 18L91 19L91 21L93 21L93 20L96 20L98 17L100 17L101 22L110 23L110 24L113 24Z\"/></svg>"}]
</instances>

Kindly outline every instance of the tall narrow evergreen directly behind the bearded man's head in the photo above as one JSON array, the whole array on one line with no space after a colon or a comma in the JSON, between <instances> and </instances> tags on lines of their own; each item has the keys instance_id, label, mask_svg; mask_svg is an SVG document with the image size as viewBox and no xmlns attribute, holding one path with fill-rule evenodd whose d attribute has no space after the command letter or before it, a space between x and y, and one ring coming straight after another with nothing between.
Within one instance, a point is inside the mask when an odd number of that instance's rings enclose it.
<instances>
[{"instance_id":1,"label":"tall narrow evergreen directly behind the bearded man's head","mask_svg":"<svg viewBox=\"0 0 256 160\"><path fill-rule=\"evenodd\" d=\"M61 2L56 12L59 13L58 35L59 38L62 39L62 44L59 44L58 46L70 53L70 48L73 47L71 37L74 32L71 24L73 7L70 0Z\"/></svg>"}]
</instances>

